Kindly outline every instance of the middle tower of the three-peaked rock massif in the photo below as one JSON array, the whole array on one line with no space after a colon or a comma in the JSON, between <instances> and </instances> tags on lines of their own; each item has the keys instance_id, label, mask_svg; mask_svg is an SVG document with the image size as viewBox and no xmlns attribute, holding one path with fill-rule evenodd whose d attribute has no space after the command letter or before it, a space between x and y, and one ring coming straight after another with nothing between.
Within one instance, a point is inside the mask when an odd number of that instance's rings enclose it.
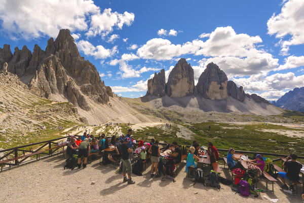
<instances>
[{"instance_id":1,"label":"middle tower of the three-peaked rock massif","mask_svg":"<svg viewBox=\"0 0 304 203\"><path fill-rule=\"evenodd\" d=\"M170 97L183 97L193 95L194 71L186 59L181 58L168 77L166 84L166 94Z\"/></svg>"}]
</instances>

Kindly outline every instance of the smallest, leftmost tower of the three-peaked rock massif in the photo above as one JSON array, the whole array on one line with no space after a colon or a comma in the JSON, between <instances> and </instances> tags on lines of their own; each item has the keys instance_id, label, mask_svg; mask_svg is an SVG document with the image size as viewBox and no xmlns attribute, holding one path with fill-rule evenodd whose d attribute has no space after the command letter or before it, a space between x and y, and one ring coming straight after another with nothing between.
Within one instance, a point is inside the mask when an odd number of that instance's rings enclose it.
<instances>
[{"instance_id":1,"label":"smallest, leftmost tower of the three-peaked rock massif","mask_svg":"<svg viewBox=\"0 0 304 203\"><path fill-rule=\"evenodd\" d=\"M152 79L148 80L147 95L155 95L163 97L166 94L166 77L165 70L162 69L160 73L155 73Z\"/></svg>"}]
</instances>

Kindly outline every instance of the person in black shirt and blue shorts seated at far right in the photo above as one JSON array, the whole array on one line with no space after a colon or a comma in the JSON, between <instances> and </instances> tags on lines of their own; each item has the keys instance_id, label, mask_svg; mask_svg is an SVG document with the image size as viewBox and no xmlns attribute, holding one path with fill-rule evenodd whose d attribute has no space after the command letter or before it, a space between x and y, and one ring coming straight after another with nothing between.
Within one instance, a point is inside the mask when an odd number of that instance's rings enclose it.
<instances>
[{"instance_id":1,"label":"person in black shirt and blue shorts seated at far right","mask_svg":"<svg viewBox=\"0 0 304 203\"><path fill-rule=\"evenodd\" d=\"M283 185L281 185L282 189L287 189L288 190L288 186L286 185L286 182L284 180L284 178L290 180L291 186L290 186L290 190L292 192L294 192L294 185L300 181L299 178L299 173L300 170L302 168L302 164L296 162L296 158L297 155L292 153L290 154L290 156L286 157L286 161L284 161L284 163L282 164L282 167L287 167L287 173L285 172L279 172L279 178L282 181ZM291 161L289 161L291 159Z\"/></svg>"}]
</instances>

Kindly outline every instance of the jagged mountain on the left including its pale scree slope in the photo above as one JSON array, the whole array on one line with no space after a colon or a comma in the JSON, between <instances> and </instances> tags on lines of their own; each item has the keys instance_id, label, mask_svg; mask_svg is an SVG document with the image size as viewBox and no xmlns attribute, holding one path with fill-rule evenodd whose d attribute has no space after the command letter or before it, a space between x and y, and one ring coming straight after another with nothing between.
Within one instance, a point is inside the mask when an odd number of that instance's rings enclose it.
<instances>
[{"instance_id":1,"label":"jagged mountain on the left including its pale scree slope","mask_svg":"<svg viewBox=\"0 0 304 203\"><path fill-rule=\"evenodd\" d=\"M61 29L54 41L48 40L42 50L34 46L33 53L26 46L15 48L10 45L0 48L0 67L16 74L29 90L41 97L55 101L69 101L78 108L89 124L107 122L143 122L150 119L136 115L136 111L112 93L101 81L96 67L80 56L68 29Z\"/></svg>"}]
</instances>

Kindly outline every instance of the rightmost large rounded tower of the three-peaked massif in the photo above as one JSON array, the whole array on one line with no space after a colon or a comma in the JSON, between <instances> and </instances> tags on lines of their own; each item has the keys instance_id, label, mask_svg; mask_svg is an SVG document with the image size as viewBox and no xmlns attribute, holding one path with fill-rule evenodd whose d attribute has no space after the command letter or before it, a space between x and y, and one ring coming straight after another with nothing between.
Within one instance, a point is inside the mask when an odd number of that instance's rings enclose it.
<instances>
[{"instance_id":1,"label":"rightmost large rounded tower of the three-peaked massif","mask_svg":"<svg viewBox=\"0 0 304 203\"><path fill-rule=\"evenodd\" d=\"M228 97L227 76L214 63L209 63L199 78L196 89L204 98L221 100Z\"/></svg>"}]
</instances>

